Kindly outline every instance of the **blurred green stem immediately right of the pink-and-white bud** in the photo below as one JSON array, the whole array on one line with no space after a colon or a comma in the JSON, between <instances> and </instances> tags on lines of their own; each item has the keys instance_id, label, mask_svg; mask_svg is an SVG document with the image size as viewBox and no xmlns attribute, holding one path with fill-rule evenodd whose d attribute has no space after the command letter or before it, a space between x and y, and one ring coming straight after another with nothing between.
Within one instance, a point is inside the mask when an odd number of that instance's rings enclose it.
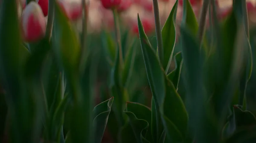
<instances>
[{"instance_id":1,"label":"blurred green stem immediately right of the pink-and-white bud","mask_svg":"<svg viewBox=\"0 0 256 143\"><path fill-rule=\"evenodd\" d=\"M52 27L54 20L54 0L49 0L49 9L48 9L48 20L47 20L47 28L46 28L46 38L50 41L52 36Z\"/></svg>"}]
</instances>

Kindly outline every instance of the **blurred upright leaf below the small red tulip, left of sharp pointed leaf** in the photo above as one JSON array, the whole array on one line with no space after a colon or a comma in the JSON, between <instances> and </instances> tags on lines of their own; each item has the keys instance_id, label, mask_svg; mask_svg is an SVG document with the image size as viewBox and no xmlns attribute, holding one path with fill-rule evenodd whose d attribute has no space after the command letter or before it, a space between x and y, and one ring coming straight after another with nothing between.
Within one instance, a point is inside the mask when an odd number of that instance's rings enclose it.
<instances>
[{"instance_id":1,"label":"blurred upright leaf below the small red tulip, left of sharp pointed leaf","mask_svg":"<svg viewBox=\"0 0 256 143\"><path fill-rule=\"evenodd\" d=\"M136 42L134 40L133 43L128 47L128 53L125 56L125 66L124 66L124 69L122 70L122 85L124 87L128 86L128 82L133 71L134 60L135 60L136 50L137 50L137 46L135 44Z\"/></svg>"}]
</instances>

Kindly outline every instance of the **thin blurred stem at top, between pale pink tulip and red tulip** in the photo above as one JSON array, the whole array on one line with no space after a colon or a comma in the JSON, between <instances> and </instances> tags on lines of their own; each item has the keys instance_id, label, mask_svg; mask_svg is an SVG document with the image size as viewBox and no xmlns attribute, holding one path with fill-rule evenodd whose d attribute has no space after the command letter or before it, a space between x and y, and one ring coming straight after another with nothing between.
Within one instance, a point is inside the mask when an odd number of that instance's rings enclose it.
<instances>
[{"instance_id":1,"label":"thin blurred stem at top, between pale pink tulip and red tulip","mask_svg":"<svg viewBox=\"0 0 256 143\"><path fill-rule=\"evenodd\" d=\"M82 7L83 7L83 21L82 21L82 36L81 36L81 61L80 61L80 73L84 72L85 68L85 61L86 61L86 37L87 37L87 3L86 0L82 0Z\"/></svg>"}]
</instances>

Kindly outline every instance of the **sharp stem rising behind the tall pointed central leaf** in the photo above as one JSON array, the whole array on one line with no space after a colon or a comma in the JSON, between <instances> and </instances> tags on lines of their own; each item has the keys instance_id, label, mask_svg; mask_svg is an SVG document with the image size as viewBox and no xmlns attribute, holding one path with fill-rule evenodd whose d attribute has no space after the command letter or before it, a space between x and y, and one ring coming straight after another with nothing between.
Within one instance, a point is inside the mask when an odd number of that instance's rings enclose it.
<instances>
[{"instance_id":1,"label":"sharp stem rising behind the tall pointed central leaf","mask_svg":"<svg viewBox=\"0 0 256 143\"><path fill-rule=\"evenodd\" d=\"M162 39L161 22L160 22L160 15L159 15L159 8L158 8L157 0L153 0L153 7L154 7L156 35L157 35L158 57L160 59L161 64L163 64L163 39Z\"/></svg>"}]
</instances>

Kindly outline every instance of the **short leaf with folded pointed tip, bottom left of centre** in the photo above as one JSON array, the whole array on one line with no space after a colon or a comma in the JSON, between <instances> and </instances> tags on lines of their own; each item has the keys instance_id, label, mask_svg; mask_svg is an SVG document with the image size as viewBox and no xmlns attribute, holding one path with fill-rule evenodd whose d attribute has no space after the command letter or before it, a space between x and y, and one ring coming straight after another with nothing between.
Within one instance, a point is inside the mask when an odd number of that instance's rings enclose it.
<instances>
[{"instance_id":1,"label":"short leaf with folded pointed tip, bottom left of centre","mask_svg":"<svg viewBox=\"0 0 256 143\"><path fill-rule=\"evenodd\" d=\"M108 123L108 115L111 111L112 103L113 97L98 104L93 109L94 143L101 143L102 141L102 137Z\"/></svg>"}]
</instances>

